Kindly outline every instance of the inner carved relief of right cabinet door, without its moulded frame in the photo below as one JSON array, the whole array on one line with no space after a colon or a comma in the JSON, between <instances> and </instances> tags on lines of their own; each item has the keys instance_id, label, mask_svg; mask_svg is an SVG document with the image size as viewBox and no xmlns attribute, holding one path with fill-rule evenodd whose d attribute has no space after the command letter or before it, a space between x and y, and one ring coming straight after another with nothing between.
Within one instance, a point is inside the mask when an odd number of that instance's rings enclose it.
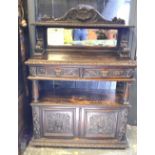
<instances>
[{"instance_id":1,"label":"inner carved relief of right cabinet door, without its moulded frame","mask_svg":"<svg viewBox=\"0 0 155 155\"><path fill-rule=\"evenodd\" d=\"M101 134L103 137L114 137L116 122L116 112L88 114L86 133L89 135Z\"/></svg>"}]
</instances>

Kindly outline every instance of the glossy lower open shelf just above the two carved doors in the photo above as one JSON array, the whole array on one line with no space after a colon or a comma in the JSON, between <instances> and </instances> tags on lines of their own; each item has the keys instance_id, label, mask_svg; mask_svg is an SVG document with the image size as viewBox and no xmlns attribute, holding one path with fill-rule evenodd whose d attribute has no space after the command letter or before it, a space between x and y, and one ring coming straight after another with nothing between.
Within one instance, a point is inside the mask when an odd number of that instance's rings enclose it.
<instances>
[{"instance_id":1,"label":"glossy lower open shelf just above the two carved doors","mask_svg":"<svg viewBox=\"0 0 155 155\"><path fill-rule=\"evenodd\" d=\"M58 89L48 93L41 92L38 102L32 105L98 105L107 107L126 107L128 102L123 103L122 94L116 94L115 90L77 90L77 89Z\"/></svg>"}]
</instances>

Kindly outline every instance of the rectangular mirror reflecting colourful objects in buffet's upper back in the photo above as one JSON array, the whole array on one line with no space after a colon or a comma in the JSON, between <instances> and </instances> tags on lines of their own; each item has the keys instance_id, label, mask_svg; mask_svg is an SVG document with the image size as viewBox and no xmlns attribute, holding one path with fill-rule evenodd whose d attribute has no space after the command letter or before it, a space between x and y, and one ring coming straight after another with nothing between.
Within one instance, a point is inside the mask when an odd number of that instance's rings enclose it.
<instances>
[{"instance_id":1,"label":"rectangular mirror reflecting colourful objects in buffet's upper back","mask_svg":"<svg viewBox=\"0 0 155 155\"><path fill-rule=\"evenodd\" d=\"M48 46L116 47L116 29L48 28Z\"/></svg>"}]
</instances>

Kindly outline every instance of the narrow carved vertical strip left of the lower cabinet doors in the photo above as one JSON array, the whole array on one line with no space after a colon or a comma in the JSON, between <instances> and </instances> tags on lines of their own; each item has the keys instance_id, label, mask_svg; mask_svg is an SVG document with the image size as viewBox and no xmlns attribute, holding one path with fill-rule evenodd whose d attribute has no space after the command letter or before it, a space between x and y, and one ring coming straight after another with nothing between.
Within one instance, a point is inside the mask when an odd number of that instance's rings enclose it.
<instances>
[{"instance_id":1,"label":"narrow carved vertical strip left of the lower cabinet doors","mask_svg":"<svg viewBox=\"0 0 155 155\"><path fill-rule=\"evenodd\" d=\"M40 138L41 131L40 131L40 119L39 119L39 107L33 107L32 114L33 114L33 135L34 138Z\"/></svg>"}]
</instances>

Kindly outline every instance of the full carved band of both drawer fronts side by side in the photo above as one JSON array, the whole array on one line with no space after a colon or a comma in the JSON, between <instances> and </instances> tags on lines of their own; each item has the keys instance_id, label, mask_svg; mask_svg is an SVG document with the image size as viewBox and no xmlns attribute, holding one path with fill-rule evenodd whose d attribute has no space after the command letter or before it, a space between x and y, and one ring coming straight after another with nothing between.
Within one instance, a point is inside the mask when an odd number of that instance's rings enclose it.
<instances>
[{"instance_id":1,"label":"full carved band of both drawer fronts side by side","mask_svg":"<svg viewBox=\"0 0 155 155\"><path fill-rule=\"evenodd\" d=\"M31 76L68 77L68 78L132 78L133 69L80 69L80 68L54 68L37 66L30 67Z\"/></svg>"}]
</instances>

